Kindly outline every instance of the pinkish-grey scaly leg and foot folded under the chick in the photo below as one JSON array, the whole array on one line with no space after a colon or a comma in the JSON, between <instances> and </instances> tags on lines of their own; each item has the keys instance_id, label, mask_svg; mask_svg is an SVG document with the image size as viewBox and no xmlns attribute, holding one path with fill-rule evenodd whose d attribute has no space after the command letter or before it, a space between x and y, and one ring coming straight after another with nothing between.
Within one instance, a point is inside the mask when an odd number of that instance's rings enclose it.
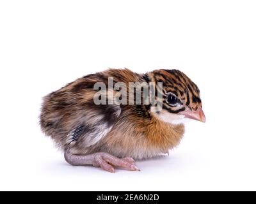
<instances>
[{"instance_id":1,"label":"pinkish-grey scaly leg and foot folded under the chick","mask_svg":"<svg viewBox=\"0 0 256 204\"><path fill-rule=\"evenodd\" d=\"M65 151L65 160L67 163L74 166L93 165L102 168L102 170L114 173L114 167L124 168L130 171L140 171L135 165L134 159L131 157L125 157L119 159L118 157L112 156L106 152L97 152L95 154L88 155L76 155L70 153L68 150Z\"/></svg>"}]
</instances>

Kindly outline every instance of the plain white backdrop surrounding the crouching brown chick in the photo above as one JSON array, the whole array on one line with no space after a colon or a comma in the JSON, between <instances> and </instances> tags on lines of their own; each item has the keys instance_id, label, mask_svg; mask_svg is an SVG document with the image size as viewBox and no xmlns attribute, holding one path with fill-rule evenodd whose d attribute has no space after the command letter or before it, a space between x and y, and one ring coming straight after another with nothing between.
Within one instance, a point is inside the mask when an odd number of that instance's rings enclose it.
<instances>
[{"instance_id":1,"label":"plain white backdrop surrounding the crouching brown chick","mask_svg":"<svg viewBox=\"0 0 256 204\"><path fill-rule=\"evenodd\" d=\"M1 190L256 190L255 1L1 1ZM42 96L106 68L178 68L207 122L140 172L65 163Z\"/></svg>"}]
</instances>

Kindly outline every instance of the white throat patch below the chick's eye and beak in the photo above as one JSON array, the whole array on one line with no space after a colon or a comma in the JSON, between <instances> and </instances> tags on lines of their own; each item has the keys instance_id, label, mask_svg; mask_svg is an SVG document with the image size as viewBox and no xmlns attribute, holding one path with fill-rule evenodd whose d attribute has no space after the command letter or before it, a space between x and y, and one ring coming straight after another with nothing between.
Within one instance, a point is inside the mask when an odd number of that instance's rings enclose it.
<instances>
[{"instance_id":1,"label":"white throat patch below the chick's eye and beak","mask_svg":"<svg viewBox=\"0 0 256 204\"><path fill-rule=\"evenodd\" d=\"M166 110L162 110L160 113L154 113L154 115L156 115L159 120L170 124L181 124L189 121L184 115L169 113Z\"/></svg>"}]
</instances>

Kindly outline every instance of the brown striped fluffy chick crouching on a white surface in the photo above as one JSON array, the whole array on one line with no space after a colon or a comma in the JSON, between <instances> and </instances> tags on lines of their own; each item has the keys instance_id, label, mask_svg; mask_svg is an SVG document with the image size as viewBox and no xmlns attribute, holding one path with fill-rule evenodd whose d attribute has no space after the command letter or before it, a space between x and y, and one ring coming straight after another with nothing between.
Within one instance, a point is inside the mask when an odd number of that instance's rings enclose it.
<instances>
[{"instance_id":1,"label":"brown striped fluffy chick crouching on a white surface","mask_svg":"<svg viewBox=\"0 0 256 204\"><path fill-rule=\"evenodd\" d=\"M118 90L111 89L109 78L114 87L118 83L128 87L121 97L128 103L114 103L115 99L109 97L117 95L120 99ZM132 82L144 87L154 85L149 97L156 103L130 103L136 96L147 98L137 89L129 94ZM105 92L99 83L106 84ZM161 84L161 90L156 84ZM96 104L95 98L108 103ZM114 173L116 168L140 171L136 161L168 154L184 136L187 119L205 122L205 115L200 90L182 71L135 73L127 68L109 68L78 78L45 96L40 127L63 151L67 163Z\"/></svg>"}]
</instances>

